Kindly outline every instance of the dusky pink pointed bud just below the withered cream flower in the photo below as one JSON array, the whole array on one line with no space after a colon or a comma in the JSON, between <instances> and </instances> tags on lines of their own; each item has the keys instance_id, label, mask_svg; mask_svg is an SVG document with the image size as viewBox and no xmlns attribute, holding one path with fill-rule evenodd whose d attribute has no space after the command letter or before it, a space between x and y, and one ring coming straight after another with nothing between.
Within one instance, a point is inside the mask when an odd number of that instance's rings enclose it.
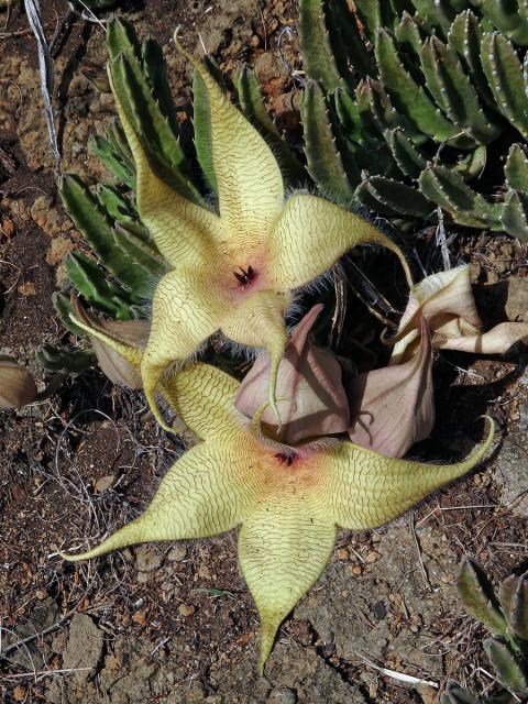
<instances>
[{"instance_id":1,"label":"dusky pink pointed bud just below the withered cream flower","mask_svg":"<svg viewBox=\"0 0 528 704\"><path fill-rule=\"evenodd\" d=\"M435 425L432 350L422 319L418 354L404 364L365 372L346 383L352 442L399 458Z\"/></svg>"}]
</instances>

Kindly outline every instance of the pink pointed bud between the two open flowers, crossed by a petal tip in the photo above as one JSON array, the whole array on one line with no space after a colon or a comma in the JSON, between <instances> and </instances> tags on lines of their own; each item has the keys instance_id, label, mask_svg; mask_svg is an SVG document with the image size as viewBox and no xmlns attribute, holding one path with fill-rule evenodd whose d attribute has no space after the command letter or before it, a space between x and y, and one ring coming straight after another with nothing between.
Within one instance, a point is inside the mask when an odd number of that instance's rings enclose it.
<instances>
[{"instance_id":1,"label":"pink pointed bud between the two open flowers, crossed by a petal tip","mask_svg":"<svg viewBox=\"0 0 528 704\"><path fill-rule=\"evenodd\" d=\"M282 426L270 408L262 421L276 440L295 444L307 438L344 432L349 404L341 381L341 366L330 350L314 344L311 328L323 306L306 314L288 340L278 365L277 406ZM263 352L240 385L235 406L253 417L267 398L270 354Z\"/></svg>"}]
</instances>

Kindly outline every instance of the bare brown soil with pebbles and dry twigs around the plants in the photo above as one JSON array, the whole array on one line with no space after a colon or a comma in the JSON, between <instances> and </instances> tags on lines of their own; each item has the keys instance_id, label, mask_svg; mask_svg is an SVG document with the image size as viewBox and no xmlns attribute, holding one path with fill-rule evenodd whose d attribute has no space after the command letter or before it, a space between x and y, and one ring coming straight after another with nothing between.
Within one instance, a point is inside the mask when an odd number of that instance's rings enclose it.
<instances>
[{"instance_id":1,"label":"bare brown soil with pebbles and dry twigs around the plants","mask_svg":"<svg viewBox=\"0 0 528 704\"><path fill-rule=\"evenodd\" d=\"M42 6L51 36L67 6ZM189 43L199 31L222 68L255 65L270 109L295 138L297 87L277 54L278 33L295 25L295 6L151 0L125 2L120 13L140 36L150 33L166 47L180 107L190 90L169 44L178 24ZM0 23L6 16L0 13ZM51 294L64 280L64 256L84 245L57 197L36 52L20 8L12 8L4 32L11 35L0 35L0 147L14 166L0 167L0 352L42 378L34 348L74 341L54 316ZM285 51L298 66L295 42ZM81 61L102 66L103 35L97 24L74 19L56 48L59 138L64 168L97 180L103 172L87 142L113 108L80 76ZM431 237L420 249L430 271L438 263ZM526 249L473 233L451 254L454 262L472 262L486 323L526 319ZM351 305L349 320L354 336L372 337L372 319L360 304ZM55 554L94 543L136 516L183 451L177 438L160 431L143 396L91 370L68 380L51 400L0 414L2 701L438 702L435 689L398 683L362 657L440 686L453 678L488 688L493 683L477 671L490 669L484 631L464 615L453 580L464 553L494 581L526 569L527 360L526 349L506 359L438 360L437 427L414 454L462 457L481 438L476 418L483 413L498 421L503 446L411 519L340 534L331 564L282 627L264 678L256 672L257 614L238 570L234 535L139 547L79 565Z\"/></svg>"}]
</instances>

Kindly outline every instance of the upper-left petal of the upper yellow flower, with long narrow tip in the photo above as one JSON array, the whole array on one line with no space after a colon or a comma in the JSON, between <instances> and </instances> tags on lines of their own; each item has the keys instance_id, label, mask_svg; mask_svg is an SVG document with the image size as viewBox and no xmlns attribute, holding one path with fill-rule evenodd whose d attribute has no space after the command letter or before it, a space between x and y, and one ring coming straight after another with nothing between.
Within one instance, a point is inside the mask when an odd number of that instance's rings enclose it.
<instances>
[{"instance_id":1,"label":"upper-left petal of the upper yellow flower, with long narrow tip","mask_svg":"<svg viewBox=\"0 0 528 704\"><path fill-rule=\"evenodd\" d=\"M180 196L157 175L158 169L148 161L150 155L141 136L128 121L121 102L122 92L128 90L127 80L122 80L125 72L125 59L119 57L112 64L109 77L119 118L135 162L135 193L141 220L172 266L195 265L198 260L206 263L210 261L213 238L221 239L220 219L210 210Z\"/></svg>"}]
</instances>

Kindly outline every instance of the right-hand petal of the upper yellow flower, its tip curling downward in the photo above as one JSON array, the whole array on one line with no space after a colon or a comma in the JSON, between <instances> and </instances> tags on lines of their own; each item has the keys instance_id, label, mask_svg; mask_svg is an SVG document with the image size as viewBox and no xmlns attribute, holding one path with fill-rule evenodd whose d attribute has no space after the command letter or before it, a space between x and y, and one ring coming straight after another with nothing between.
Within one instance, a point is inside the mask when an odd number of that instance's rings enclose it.
<instances>
[{"instance_id":1,"label":"right-hand petal of the upper yellow flower, its tip curling downward","mask_svg":"<svg viewBox=\"0 0 528 704\"><path fill-rule=\"evenodd\" d=\"M371 222L317 196L294 194L272 232L268 278L282 290L298 288L358 244L380 244L394 252L413 285L404 254Z\"/></svg>"}]
</instances>

